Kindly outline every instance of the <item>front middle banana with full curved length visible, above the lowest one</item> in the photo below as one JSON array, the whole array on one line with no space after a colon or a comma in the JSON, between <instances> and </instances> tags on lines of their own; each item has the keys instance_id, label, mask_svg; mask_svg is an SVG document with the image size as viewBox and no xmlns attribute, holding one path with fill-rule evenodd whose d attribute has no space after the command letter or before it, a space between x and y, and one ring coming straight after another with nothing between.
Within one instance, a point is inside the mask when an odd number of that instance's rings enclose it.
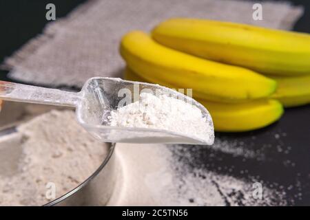
<instances>
[{"instance_id":1,"label":"front middle banana with full curved length visible, above the lowest one","mask_svg":"<svg viewBox=\"0 0 310 220\"><path fill-rule=\"evenodd\" d=\"M276 90L276 81L270 78L169 49L140 31L126 34L120 50L127 65L146 80L193 89L208 100L245 101L270 96Z\"/></svg>"}]
</instances>

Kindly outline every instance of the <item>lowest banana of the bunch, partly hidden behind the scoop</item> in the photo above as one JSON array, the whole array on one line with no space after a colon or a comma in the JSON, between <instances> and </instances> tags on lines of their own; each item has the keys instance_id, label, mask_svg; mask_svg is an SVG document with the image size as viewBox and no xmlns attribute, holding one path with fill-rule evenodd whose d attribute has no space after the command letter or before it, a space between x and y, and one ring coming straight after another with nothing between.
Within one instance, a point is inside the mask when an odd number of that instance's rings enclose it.
<instances>
[{"instance_id":1,"label":"lowest banana of the bunch, partly hidden behind the scoop","mask_svg":"<svg viewBox=\"0 0 310 220\"><path fill-rule=\"evenodd\" d=\"M128 67L125 69L125 79L147 83ZM165 85L175 88L174 85ZM199 100L209 111L214 122L215 131L250 131L259 129L278 120L283 108L277 100L254 100L242 103L219 103Z\"/></svg>"}]
</instances>

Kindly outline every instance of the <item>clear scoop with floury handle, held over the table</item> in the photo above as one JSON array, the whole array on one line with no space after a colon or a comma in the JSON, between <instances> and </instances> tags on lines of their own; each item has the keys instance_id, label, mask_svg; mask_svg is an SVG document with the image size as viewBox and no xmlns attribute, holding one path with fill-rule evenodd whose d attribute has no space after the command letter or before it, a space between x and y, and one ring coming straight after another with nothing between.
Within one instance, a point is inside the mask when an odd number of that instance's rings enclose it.
<instances>
[{"instance_id":1,"label":"clear scoop with floury handle, held over the table","mask_svg":"<svg viewBox=\"0 0 310 220\"><path fill-rule=\"evenodd\" d=\"M110 113L118 108L118 104L124 100L124 97L133 95L130 99L137 100L143 91L170 94L194 104L203 113L203 117L207 117L210 132L205 134L206 138L192 137L164 129L110 126L108 120ZM17 102L75 107L78 122L103 142L211 145L214 141L213 123L207 109L192 98L160 85L120 78L95 77L87 80L81 91L75 93L0 81L0 98Z\"/></svg>"}]
</instances>

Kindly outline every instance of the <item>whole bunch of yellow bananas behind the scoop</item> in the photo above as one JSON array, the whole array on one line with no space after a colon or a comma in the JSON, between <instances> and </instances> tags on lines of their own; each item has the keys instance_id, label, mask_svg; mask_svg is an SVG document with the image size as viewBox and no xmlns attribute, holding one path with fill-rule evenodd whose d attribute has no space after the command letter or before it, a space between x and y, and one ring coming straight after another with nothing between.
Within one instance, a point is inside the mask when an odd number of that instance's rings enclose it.
<instances>
[{"instance_id":1,"label":"whole bunch of yellow bananas behind the scoop","mask_svg":"<svg viewBox=\"0 0 310 220\"><path fill-rule=\"evenodd\" d=\"M151 35L125 34L120 51L126 79L193 89L216 131L259 129L281 117L282 104L310 102L308 34L170 19Z\"/></svg>"}]
</instances>

